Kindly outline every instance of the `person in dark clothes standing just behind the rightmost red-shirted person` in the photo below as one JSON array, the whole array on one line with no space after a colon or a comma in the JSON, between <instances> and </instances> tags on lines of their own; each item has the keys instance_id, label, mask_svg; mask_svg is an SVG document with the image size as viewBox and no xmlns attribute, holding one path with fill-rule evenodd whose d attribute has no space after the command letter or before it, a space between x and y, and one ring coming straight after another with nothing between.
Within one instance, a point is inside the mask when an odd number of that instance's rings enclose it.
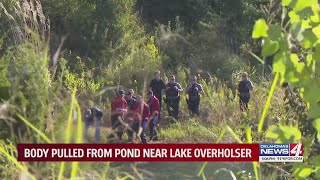
<instances>
[{"instance_id":1,"label":"person in dark clothes standing just behind the rightmost red-shirted person","mask_svg":"<svg viewBox=\"0 0 320 180\"><path fill-rule=\"evenodd\" d=\"M160 111L161 111L161 102L162 102L162 91L166 88L166 84L160 78L160 71L155 71L155 78L150 82L150 90L153 92L154 96L159 100ZM159 111L159 118L160 118Z\"/></svg>"}]
</instances>

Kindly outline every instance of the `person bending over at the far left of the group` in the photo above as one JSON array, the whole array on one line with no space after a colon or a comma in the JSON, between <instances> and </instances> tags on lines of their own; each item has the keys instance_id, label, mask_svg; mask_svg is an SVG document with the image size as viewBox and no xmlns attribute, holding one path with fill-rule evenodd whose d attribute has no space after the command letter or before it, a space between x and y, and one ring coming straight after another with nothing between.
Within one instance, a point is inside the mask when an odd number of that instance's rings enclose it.
<instances>
[{"instance_id":1,"label":"person bending over at the far left of the group","mask_svg":"<svg viewBox=\"0 0 320 180\"><path fill-rule=\"evenodd\" d=\"M92 107L87 109L86 119L85 119L85 129L84 129L84 137L87 141L89 141L88 129L90 125L93 125L93 124L95 124L95 128L96 128L95 134L94 134L94 140L96 143L100 141L102 116L103 116L102 111L97 107Z\"/></svg>"}]
</instances>

